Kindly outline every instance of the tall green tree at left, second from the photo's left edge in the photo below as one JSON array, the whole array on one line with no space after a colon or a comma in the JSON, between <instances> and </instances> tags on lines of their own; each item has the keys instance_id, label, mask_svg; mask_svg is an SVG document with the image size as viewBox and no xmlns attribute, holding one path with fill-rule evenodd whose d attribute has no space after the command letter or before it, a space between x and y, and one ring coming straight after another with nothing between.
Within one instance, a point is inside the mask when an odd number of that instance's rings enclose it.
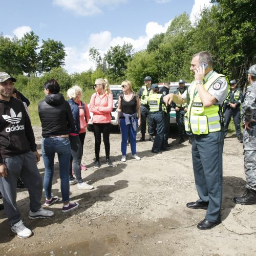
<instances>
[{"instance_id":1,"label":"tall green tree at left, second from the photo's left edge","mask_svg":"<svg viewBox=\"0 0 256 256\"><path fill-rule=\"evenodd\" d=\"M38 71L38 56L36 52L39 48L38 41L39 37L33 31L26 33L24 37L17 41L16 55L20 69L29 76L36 75Z\"/></svg>"}]
</instances>

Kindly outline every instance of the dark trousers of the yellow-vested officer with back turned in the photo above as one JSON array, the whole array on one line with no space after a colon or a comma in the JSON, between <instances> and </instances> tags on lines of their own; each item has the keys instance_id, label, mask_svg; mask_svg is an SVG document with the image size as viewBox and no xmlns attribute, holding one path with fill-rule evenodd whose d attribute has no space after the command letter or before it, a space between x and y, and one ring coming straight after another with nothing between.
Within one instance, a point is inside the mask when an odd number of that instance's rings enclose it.
<instances>
[{"instance_id":1,"label":"dark trousers of the yellow-vested officer with back turned","mask_svg":"<svg viewBox=\"0 0 256 256\"><path fill-rule=\"evenodd\" d=\"M166 150L166 145L164 141L164 119L163 112L151 112L151 118L153 124L156 128L156 137L152 146L152 151L160 152L161 150Z\"/></svg>"}]
</instances>

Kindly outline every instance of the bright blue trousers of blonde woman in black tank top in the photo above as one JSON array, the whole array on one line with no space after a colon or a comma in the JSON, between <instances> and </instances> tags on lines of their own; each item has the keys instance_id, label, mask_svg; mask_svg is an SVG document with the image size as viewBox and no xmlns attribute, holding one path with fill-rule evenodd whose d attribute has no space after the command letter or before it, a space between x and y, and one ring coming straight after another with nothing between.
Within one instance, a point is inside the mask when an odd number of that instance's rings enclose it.
<instances>
[{"instance_id":1,"label":"bright blue trousers of blonde woman in black tank top","mask_svg":"<svg viewBox=\"0 0 256 256\"><path fill-rule=\"evenodd\" d=\"M138 126L138 119L135 119L135 122L136 122L136 126ZM130 144L131 144L132 155L135 155L136 154L137 131L134 131L133 126L131 124L126 125L124 118L120 119L120 130L121 130L121 136L122 136L122 142L121 142L122 155L126 156L128 134L130 135Z\"/></svg>"}]
</instances>

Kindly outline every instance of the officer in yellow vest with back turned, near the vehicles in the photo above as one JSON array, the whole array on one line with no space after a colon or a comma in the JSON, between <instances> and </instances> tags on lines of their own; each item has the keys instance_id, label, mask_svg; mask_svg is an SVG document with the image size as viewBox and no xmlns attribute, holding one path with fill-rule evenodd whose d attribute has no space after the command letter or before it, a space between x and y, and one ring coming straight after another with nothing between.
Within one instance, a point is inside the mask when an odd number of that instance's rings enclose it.
<instances>
[{"instance_id":1,"label":"officer in yellow vest with back turned, near the vehicles","mask_svg":"<svg viewBox=\"0 0 256 256\"><path fill-rule=\"evenodd\" d=\"M148 96L147 102L150 105L150 115L156 128L156 137L152 147L152 153L159 154L161 150L167 150L164 140L164 111L163 94L159 93L157 83L152 84L152 93Z\"/></svg>"}]
</instances>

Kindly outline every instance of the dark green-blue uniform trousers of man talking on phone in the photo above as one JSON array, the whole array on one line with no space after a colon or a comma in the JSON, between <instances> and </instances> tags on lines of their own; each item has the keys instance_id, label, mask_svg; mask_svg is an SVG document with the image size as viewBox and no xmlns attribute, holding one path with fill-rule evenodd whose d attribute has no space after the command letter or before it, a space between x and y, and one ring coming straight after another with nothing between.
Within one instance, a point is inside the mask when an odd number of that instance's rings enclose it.
<instances>
[{"instance_id":1,"label":"dark green-blue uniform trousers of man talking on phone","mask_svg":"<svg viewBox=\"0 0 256 256\"><path fill-rule=\"evenodd\" d=\"M192 160L198 203L208 203L205 219L216 222L220 218L222 202L222 153L224 131L208 135L194 135Z\"/></svg>"}]
</instances>

